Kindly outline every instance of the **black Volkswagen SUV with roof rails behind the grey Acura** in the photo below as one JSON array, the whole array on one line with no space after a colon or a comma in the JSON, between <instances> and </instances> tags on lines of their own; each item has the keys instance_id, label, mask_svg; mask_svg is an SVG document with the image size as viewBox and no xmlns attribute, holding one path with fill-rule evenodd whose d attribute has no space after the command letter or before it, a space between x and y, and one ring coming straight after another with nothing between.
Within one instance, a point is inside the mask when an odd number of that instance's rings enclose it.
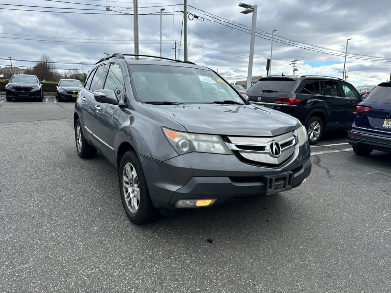
<instances>
[{"instance_id":1,"label":"black Volkswagen SUV with roof rails behind the grey Acura","mask_svg":"<svg viewBox=\"0 0 391 293\"><path fill-rule=\"evenodd\" d=\"M246 95L249 101L299 119L310 144L316 144L325 131L348 130L353 110L363 99L342 79L312 75L263 77Z\"/></svg>"}]
</instances>

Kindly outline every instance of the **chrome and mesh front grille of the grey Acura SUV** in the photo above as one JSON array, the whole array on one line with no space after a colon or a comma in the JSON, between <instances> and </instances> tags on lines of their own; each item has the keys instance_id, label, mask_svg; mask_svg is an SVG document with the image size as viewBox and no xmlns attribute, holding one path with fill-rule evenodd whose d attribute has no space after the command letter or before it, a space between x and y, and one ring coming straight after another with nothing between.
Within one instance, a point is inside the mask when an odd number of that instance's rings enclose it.
<instances>
[{"instance_id":1,"label":"chrome and mesh front grille of the grey Acura SUV","mask_svg":"<svg viewBox=\"0 0 391 293\"><path fill-rule=\"evenodd\" d=\"M228 136L227 146L237 158L245 163L265 167L279 167L294 153L296 137L293 132L273 137ZM276 141L281 146L281 154L272 156L268 144Z\"/></svg>"}]
</instances>

